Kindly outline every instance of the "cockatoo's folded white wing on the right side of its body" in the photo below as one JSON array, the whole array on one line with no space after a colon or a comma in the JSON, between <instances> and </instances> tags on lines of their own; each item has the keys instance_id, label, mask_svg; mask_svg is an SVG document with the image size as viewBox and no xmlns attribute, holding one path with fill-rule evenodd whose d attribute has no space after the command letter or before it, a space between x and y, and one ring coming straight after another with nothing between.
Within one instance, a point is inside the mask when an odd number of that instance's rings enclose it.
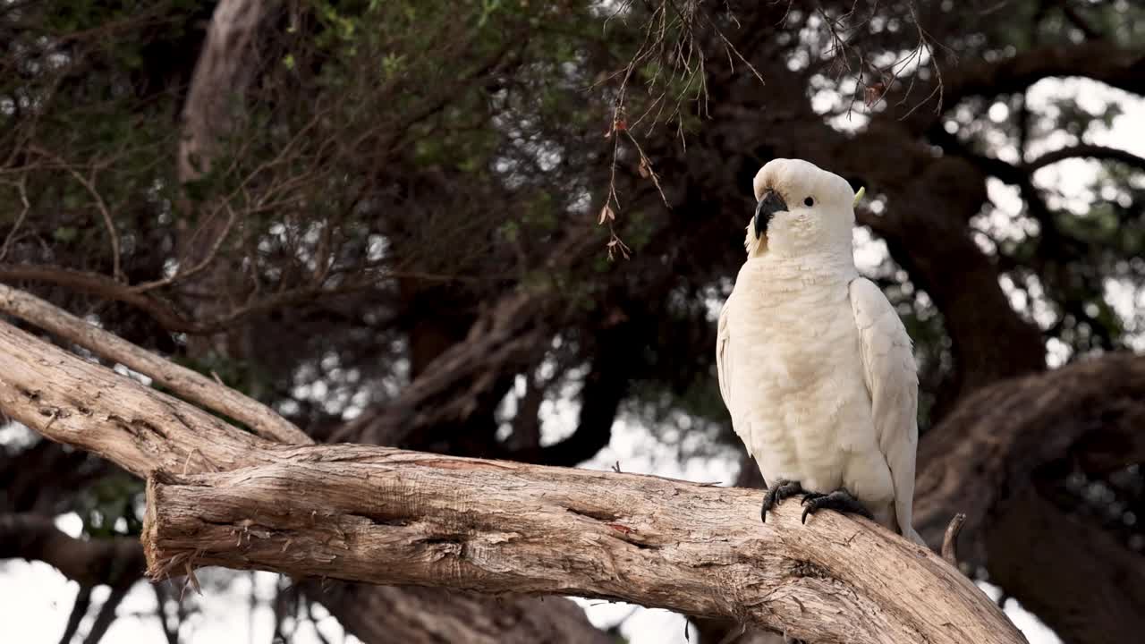
<instances>
[{"instance_id":1,"label":"cockatoo's folded white wing on the right side of its body","mask_svg":"<svg viewBox=\"0 0 1145 644\"><path fill-rule=\"evenodd\" d=\"M918 370L910 336L874 282L859 277L850 291L875 434L894 482L895 520L903 536L923 543L910 523L918 446Z\"/></svg>"}]
</instances>

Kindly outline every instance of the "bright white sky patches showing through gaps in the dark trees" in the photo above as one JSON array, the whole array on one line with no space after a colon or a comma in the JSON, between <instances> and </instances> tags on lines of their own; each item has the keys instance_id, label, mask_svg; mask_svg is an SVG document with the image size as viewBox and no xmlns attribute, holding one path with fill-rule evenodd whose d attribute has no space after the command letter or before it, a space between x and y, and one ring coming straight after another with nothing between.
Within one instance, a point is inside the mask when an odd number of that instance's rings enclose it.
<instances>
[{"instance_id":1,"label":"bright white sky patches showing through gaps in the dark trees","mask_svg":"<svg viewBox=\"0 0 1145 644\"><path fill-rule=\"evenodd\" d=\"M1110 89L1100 84L1082 79L1045 80L1030 91L1030 105L1043 109L1052 97L1061 95L1077 96L1082 105L1100 109L1111 100L1124 99L1124 94ZM1108 129L1093 132L1087 142L1122 148L1145 156L1145 101L1124 100L1124 113ZM1003 117L997 108L992 115ZM1047 149L1060 147L1065 141L1049 141ZM1043 150L1034 150L1040 154ZM1005 154L1000 152L1000 154ZM1088 181L1096 172L1096 164L1087 160L1068 160L1040 171L1035 178L1039 184L1055 187L1066 198L1077 198L1087 190ZM990 197L1003 213L1013 214L1020 210L1020 201L1014 190L997 182L989 187ZM985 222L988 226L1004 227L1005 218ZM879 243L870 243L861 233L856 236L859 244L860 267L878 262L885 248ZM1126 284L1113 283L1107 289L1107 298L1122 316L1131 316L1135 308L1145 308L1145 293L1135 291ZM1017 304L1021 304L1016 301ZM1145 329L1135 329L1137 344L1135 348L1145 351ZM1052 355L1051 347L1051 355ZM1059 355L1058 360L1064 356ZM568 432L575 418L575 407L570 403L559 403L545 418L546 435ZM625 421L619 421L613 432L611 445L601 451L587 466L607 469L614 462L621 462L624 471L646 472L696 481L719 481L731 484L736 474L736 455L728 453L713 458L693 458L680 463L676 448L658 443L647 429ZM79 519L74 516L62 517L57 524L71 534L79 534ZM229 573L222 573L229 574ZM216 575L218 576L218 575ZM276 575L269 573L242 574L228 587L212 588L210 572L204 573L204 595L194 597L203 608L184 626L182 641L187 643L208 642L230 643L269 643L273 633L273 615L267 607L271 597ZM253 586L252 586L253 584ZM992 597L997 597L997 589L984 584ZM78 587L65 580L47 564L23 560L0 563L0 623L5 625L6 639L22 643L57 642L63 631L72 600ZM252 591L256 597L256 606L251 607ZM106 589L97 589L94 603L98 604L106 597ZM189 596L191 591L188 591ZM119 607L119 615L104 642L113 644L143 644L165 642L153 611L155 594L150 586L137 584ZM645 610L625 604L597 600L581 600L586 606L590 619L599 626L611 626L624 621L622 631L632 644L682 643L685 638L684 618L661 610ZM316 608L319 615L325 615ZM92 613L95 611L93 610ZM1022 629L1030 644L1055 644L1059 639L1053 636L1035 618L1024 611L1013 599L1005 604L1006 614ZM80 633L90 627L92 616L81 625ZM318 628L331 642L342 641L342 629L337 620L325 616L319 619ZM353 637L348 642L355 642ZM692 641L695 641L693 634ZM299 626L298 644L318 644L319 639L313 631L313 626L303 621Z\"/></svg>"}]
</instances>

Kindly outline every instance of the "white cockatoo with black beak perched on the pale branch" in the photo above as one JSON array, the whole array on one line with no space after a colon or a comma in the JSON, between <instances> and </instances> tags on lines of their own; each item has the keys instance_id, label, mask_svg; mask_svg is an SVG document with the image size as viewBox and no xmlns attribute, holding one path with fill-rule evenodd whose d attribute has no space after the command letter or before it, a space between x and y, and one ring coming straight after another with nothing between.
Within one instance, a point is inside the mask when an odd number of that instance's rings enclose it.
<instances>
[{"instance_id":1,"label":"white cockatoo with black beak perched on the pale branch","mask_svg":"<svg viewBox=\"0 0 1145 644\"><path fill-rule=\"evenodd\" d=\"M748 260L719 316L716 361L735 433L768 490L804 495L923 543L910 523L918 377L894 307L859 276L845 179L774 159L753 181Z\"/></svg>"}]
</instances>

